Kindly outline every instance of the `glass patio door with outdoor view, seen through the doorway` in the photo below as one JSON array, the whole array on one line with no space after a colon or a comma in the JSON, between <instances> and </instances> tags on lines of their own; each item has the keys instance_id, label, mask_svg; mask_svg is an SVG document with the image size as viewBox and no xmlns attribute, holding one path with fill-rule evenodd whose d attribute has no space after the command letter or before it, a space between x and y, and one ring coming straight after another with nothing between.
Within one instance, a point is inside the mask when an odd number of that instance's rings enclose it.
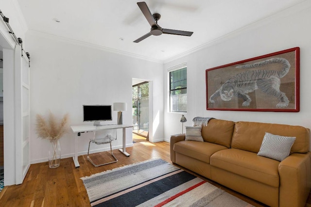
<instances>
[{"instance_id":1,"label":"glass patio door with outdoor view, seen through the doorway","mask_svg":"<svg viewBox=\"0 0 311 207\"><path fill-rule=\"evenodd\" d=\"M133 133L148 137L149 131L149 82L132 86Z\"/></svg>"}]
</instances>

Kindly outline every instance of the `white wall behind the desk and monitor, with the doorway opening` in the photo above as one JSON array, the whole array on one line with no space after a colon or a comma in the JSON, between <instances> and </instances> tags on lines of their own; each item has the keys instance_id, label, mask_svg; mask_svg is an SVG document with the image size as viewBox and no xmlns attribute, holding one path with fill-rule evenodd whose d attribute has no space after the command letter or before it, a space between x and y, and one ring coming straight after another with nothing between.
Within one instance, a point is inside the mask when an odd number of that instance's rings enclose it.
<instances>
[{"instance_id":1,"label":"white wall behind the desk and monitor, with the doorway opening","mask_svg":"<svg viewBox=\"0 0 311 207\"><path fill-rule=\"evenodd\" d=\"M83 123L83 104L113 104L127 102L123 123L132 123L132 78L151 80L153 84L153 117L159 119L153 140L163 141L163 64L129 55L95 48L82 43L60 39L38 32L27 32L31 53L31 162L47 160L47 140L37 138L35 115L51 112L60 117L69 113L69 126ZM117 111L113 111L113 123ZM74 134L60 139L62 158L74 153ZM119 135L120 134L120 135ZM121 130L114 148L121 148ZM79 154L86 154L88 135L78 141ZM132 145L131 129L127 131L127 146ZM103 147L103 146L100 146ZM108 149L105 146L104 150Z\"/></svg>"}]
</instances>

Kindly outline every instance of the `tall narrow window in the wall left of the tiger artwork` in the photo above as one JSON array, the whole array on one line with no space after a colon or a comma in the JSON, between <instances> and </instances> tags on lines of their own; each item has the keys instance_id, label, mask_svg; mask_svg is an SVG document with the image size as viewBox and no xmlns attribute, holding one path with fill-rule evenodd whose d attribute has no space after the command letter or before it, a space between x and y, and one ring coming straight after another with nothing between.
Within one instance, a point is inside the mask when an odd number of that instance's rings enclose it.
<instances>
[{"instance_id":1,"label":"tall narrow window in the wall left of the tiger artwork","mask_svg":"<svg viewBox=\"0 0 311 207\"><path fill-rule=\"evenodd\" d=\"M170 111L187 112L187 67L170 72Z\"/></svg>"}]
</instances>

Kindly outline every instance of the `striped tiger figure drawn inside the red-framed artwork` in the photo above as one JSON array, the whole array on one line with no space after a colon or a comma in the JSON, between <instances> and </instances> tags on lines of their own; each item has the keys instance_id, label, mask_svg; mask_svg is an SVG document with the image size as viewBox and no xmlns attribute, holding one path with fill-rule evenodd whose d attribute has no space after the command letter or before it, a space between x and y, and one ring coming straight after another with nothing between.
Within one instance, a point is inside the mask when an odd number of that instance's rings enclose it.
<instances>
[{"instance_id":1,"label":"striped tiger figure drawn inside the red-framed artwork","mask_svg":"<svg viewBox=\"0 0 311 207\"><path fill-rule=\"evenodd\" d=\"M224 101L229 101L233 96L242 98L243 107L250 105L252 99L248 96L257 89L263 93L275 96L278 99L276 108L286 108L289 104L289 99L285 93L280 91L281 78L286 76L291 64L285 58L272 58L254 64L238 65L237 68L255 68L267 64L282 64L280 71L276 70L249 70L239 73L228 80L210 96L209 101L215 103L216 97L221 97Z\"/></svg>"}]
</instances>

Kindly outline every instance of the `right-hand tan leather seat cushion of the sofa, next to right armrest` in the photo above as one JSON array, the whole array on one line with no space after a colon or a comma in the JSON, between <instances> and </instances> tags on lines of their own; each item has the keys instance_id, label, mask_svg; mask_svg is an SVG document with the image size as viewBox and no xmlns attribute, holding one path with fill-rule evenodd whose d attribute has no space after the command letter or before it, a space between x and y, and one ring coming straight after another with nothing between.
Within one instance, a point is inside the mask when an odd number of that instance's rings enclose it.
<instances>
[{"instance_id":1,"label":"right-hand tan leather seat cushion of the sofa, next to right armrest","mask_svg":"<svg viewBox=\"0 0 311 207\"><path fill-rule=\"evenodd\" d=\"M210 157L210 165L258 182L279 187L279 161L240 149L225 149ZM212 177L213 179L213 177Z\"/></svg>"}]
</instances>

